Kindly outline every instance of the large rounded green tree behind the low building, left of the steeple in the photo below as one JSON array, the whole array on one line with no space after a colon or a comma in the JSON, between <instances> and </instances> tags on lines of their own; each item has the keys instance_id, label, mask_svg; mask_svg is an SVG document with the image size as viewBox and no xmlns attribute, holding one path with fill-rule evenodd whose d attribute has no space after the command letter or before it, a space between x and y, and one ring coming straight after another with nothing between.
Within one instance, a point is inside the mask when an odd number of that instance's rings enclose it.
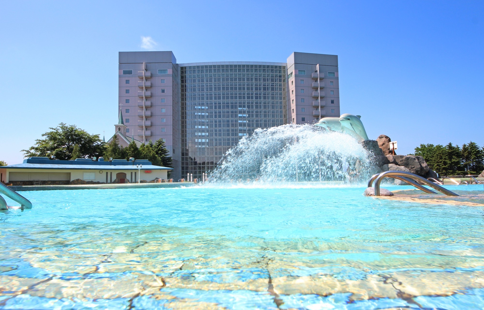
<instances>
[{"instance_id":1,"label":"large rounded green tree behind the low building, left of the steeple","mask_svg":"<svg viewBox=\"0 0 484 310\"><path fill-rule=\"evenodd\" d=\"M60 123L59 126L42 134L44 139L35 140L35 145L22 150L25 157L56 156L58 159L72 158L74 146L78 145L81 158L98 157L104 153L104 143L99 135L91 135L74 125Z\"/></svg>"}]
</instances>

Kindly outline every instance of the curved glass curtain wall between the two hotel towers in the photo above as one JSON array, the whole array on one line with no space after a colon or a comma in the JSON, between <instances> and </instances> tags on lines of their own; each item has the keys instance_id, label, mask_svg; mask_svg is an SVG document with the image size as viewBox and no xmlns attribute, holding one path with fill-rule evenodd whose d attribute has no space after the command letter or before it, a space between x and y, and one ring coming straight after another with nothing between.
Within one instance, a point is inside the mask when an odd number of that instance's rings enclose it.
<instances>
[{"instance_id":1,"label":"curved glass curtain wall between the two hotel towers","mask_svg":"<svg viewBox=\"0 0 484 310\"><path fill-rule=\"evenodd\" d=\"M181 177L201 179L256 128L287 123L285 63L181 64Z\"/></svg>"}]
</instances>

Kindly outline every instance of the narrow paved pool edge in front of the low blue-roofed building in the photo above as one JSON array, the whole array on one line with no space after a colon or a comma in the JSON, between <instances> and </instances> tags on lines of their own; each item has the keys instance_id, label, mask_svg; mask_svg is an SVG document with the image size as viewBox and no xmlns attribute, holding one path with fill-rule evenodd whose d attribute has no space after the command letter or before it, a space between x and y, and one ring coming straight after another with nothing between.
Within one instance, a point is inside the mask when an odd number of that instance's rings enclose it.
<instances>
[{"instance_id":1,"label":"narrow paved pool edge in front of the low blue-roofed building","mask_svg":"<svg viewBox=\"0 0 484 310\"><path fill-rule=\"evenodd\" d=\"M158 188L158 187L188 187L196 183L125 183L125 184L85 184L85 185L27 185L9 186L14 191L48 191L59 189L112 189L112 188Z\"/></svg>"}]
</instances>

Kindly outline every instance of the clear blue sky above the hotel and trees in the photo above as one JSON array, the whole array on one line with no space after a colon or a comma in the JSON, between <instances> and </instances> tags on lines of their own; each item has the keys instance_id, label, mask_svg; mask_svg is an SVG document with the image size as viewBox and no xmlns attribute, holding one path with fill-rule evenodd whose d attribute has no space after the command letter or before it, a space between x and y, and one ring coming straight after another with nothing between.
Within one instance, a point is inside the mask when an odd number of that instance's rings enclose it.
<instances>
[{"instance_id":1,"label":"clear blue sky above the hotel and trees","mask_svg":"<svg viewBox=\"0 0 484 310\"><path fill-rule=\"evenodd\" d=\"M106 137L117 122L118 52L179 63L339 56L341 113L398 154L483 135L484 1L4 1L0 160L60 122ZM142 48L151 37L151 48Z\"/></svg>"}]
</instances>

